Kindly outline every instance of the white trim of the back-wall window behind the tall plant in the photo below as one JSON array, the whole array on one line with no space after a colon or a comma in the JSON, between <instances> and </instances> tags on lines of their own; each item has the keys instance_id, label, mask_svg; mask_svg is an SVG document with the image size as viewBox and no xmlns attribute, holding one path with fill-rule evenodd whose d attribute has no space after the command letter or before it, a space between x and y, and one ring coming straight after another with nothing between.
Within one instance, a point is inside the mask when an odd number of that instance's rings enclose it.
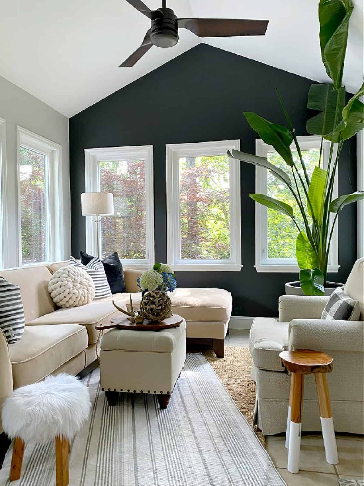
<instances>
[{"instance_id":1,"label":"white trim of the back-wall window behind the tall plant","mask_svg":"<svg viewBox=\"0 0 364 486\"><path fill-rule=\"evenodd\" d=\"M301 150L309 150L313 148L320 148L321 137L319 136L303 136L297 137ZM324 168L328 160L331 142L329 140L323 141L323 161ZM291 150L296 150L293 143ZM255 140L255 153L258 156L266 157L268 152L274 151L271 145L265 143L262 139ZM336 156L336 144L334 146L333 159ZM287 166L287 169L289 167ZM288 172L289 175L290 172ZM255 167L255 192L266 194L267 191L267 169L263 167ZM337 197L337 173L335 174L333 199ZM333 215L330 215L331 224L333 222ZM255 269L257 272L268 273L298 273L299 267L296 259L267 259L264 257L267 253L267 208L259 203L255 203ZM339 270L338 264L338 236L337 225L332 233L330 264L328 265L328 273L335 273Z\"/></svg>"}]
</instances>

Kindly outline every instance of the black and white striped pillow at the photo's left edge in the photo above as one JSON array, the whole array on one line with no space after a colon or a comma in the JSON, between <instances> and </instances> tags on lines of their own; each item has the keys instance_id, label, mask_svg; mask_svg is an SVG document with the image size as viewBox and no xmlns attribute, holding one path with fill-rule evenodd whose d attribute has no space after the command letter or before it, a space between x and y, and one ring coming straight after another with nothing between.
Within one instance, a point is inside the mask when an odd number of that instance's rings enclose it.
<instances>
[{"instance_id":1,"label":"black and white striped pillow at the photo's left edge","mask_svg":"<svg viewBox=\"0 0 364 486\"><path fill-rule=\"evenodd\" d=\"M0 328L9 344L19 341L24 326L24 308L19 286L0 276Z\"/></svg>"}]
</instances>

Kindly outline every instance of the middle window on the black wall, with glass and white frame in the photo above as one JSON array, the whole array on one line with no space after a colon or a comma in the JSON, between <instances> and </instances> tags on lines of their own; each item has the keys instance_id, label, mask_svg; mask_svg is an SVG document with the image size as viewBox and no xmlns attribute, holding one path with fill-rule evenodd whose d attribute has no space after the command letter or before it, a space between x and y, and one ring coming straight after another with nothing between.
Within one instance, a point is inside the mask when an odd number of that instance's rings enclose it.
<instances>
[{"instance_id":1,"label":"middle window on the black wall, with glass and white frame","mask_svg":"<svg viewBox=\"0 0 364 486\"><path fill-rule=\"evenodd\" d=\"M240 140L166 145L167 262L175 270L240 271Z\"/></svg>"}]
</instances>

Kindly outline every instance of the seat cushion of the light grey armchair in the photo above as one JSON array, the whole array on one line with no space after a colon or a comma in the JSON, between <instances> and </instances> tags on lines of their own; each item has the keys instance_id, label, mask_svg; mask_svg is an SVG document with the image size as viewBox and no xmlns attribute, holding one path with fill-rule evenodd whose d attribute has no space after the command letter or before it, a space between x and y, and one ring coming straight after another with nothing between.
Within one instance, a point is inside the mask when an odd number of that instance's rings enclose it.
<instances>
[{"instance_id":1,"label":"seat cushion of the light grey armchair","mask_svg":"<svg viewBox=\"0 0 364 486\"><path fill-rule=\"evenodd\" d=\"M250 329L249 348L257 368L284 371L279 354L288 349L288 322L256 317Z\"/></svg>"}]
</instances>

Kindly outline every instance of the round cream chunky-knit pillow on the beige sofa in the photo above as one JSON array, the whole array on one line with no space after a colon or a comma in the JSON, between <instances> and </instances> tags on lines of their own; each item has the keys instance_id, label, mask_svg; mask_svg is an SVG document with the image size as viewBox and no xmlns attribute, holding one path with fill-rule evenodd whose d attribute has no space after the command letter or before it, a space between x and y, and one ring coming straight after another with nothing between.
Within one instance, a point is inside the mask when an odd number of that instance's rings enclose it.
<instances>
[{"instance_id":1,"label":"round cream chunky-knit pillow on the beige sofa","mask_svg":"<svg viewBox=\"0 0 364 486\"><path fill-rule=\"evenodd\" d=\"M50 278L48 291L58 307L78 307L95 297L95 284L82 268L60 268Z\"/></svg>"}]
</instances>

